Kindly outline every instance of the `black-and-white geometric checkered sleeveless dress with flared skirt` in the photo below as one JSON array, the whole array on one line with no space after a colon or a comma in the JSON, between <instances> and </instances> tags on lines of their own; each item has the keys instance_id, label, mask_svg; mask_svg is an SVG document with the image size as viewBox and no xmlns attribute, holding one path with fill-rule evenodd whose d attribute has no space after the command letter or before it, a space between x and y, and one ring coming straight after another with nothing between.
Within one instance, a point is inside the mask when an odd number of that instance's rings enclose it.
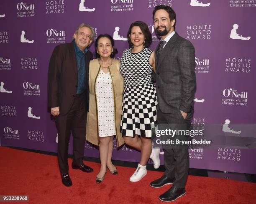
<instances>
[{"instance_id":1,"label":"black-and-white geometric checkered sleeveless dress with flared skirt","mask_svg":"<svg viewBox=\"0 0 256 204\"><path fill-rule=\"evenodd\" d=\"M120 73L125 88L120 132L123 136L151 137L151 124L156 124L156 87L151 82L153 67L149 57L153 50L144 48L139 53L124 50Z\"/></svg>"}]
</instances>

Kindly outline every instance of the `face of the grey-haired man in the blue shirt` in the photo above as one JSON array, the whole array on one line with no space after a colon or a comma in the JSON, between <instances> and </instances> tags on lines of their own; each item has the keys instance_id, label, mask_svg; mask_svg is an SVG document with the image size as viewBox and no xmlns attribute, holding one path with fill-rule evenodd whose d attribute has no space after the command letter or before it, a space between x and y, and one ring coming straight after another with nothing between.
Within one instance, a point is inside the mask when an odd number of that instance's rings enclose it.
<instances>
[{"instance_id":1,"label":"face of the grey-haired man in the blue shirt","mask_svg":"<svg viewBox=\"0 0 256 204\"><path fill-rule=\"evenodd\" d=\"M82 51L92 43L91 37L92 31L89 27L82 27L77 34L74 34L77 47Z\"/></svg>"}]
</instances>

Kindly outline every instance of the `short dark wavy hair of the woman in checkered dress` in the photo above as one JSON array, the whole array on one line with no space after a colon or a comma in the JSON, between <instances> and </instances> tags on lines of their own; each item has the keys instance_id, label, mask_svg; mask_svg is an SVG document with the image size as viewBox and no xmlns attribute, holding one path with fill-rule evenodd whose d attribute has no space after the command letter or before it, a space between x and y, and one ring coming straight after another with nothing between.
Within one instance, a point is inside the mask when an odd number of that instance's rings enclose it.
<instances>
[{"instance_id":1,"label":"short dark wavy hair of the woman in checkered dress","mask_svg":"<svg viewBox=\"0 0 256 204\"><path fill-rule=\"evenodd\" d=\"M133 23L130 25L130 28L129 28L128 32L127 32L127 39L128 39L130 48L133 47L133 44L132 44L132 42L131 42L130 34L131 34L131 29L132 29L134 26L138 26L138 27L141 28L141 31L142 31L142 33L143 33L144 36L145 36L145 43L144 43L144 46L145 46L145 47L150 47L151 42L152 42L152 35L151 35L151 32L150 32L149 29L148 29L148 25L146 25L146 23L144 23L144 22L142 22L142 21L135 21L135 22L133 22Z\"/></svg>"}]
</instances>

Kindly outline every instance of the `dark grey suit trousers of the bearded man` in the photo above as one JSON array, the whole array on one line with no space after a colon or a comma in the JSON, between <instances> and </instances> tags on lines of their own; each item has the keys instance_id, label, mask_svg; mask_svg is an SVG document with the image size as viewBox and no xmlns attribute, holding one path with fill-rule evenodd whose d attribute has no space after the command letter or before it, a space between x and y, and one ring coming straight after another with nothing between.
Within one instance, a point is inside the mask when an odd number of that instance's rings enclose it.
<instances>
[{"instance_id":1,"label":"dark grey suit trousers of the bearded man","mask_svg":"<svg viewBox=\"0 0 256 204\"><path fill-rule=\"evenodd\" d=\"M182 127L186 130L191 126L191 119L193 113L188 113L187 118L183 119L180 112L176 113L163 113L160 109L157 111L158 124L182 124ZM164 174L172 179L175 177L173 187L184 188L187 182L187 176L189 171L189 153L187 150L187 144L181 145L169 145L164 149L164 167L166 171Z\"/></svg>"}]
</instances>

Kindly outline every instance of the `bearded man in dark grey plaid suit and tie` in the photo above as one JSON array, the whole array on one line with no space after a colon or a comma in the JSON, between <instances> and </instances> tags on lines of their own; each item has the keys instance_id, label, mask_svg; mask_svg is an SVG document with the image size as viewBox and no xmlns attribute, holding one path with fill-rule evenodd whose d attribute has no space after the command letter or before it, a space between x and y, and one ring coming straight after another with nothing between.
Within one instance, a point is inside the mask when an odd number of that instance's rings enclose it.
<instances>
[{"instance_id":1,"label":"bearded man in dark grey plaid suit and tie","mask_svg":"<svg viewBox=\"0 0 256 204\"><path fill-rule=\"evenodd\" d=\"M189 129L194 112L195 95L195 49L191 42L175 32L176 14L165 5L158 5L153 11L156 33L161 42L156 48L156 87L158 124L180 124L180 129ZM184 135L182 136L184 139ZM180 137L181 138L181 137ZM171 139L171 138L169 138ZM170 144L164 147L166 171L150 186L159 188L173 184L159 196L161 201L174 201L186 193L185 185L189 170L187 144Z\"/></svg>"}]
</instances>

